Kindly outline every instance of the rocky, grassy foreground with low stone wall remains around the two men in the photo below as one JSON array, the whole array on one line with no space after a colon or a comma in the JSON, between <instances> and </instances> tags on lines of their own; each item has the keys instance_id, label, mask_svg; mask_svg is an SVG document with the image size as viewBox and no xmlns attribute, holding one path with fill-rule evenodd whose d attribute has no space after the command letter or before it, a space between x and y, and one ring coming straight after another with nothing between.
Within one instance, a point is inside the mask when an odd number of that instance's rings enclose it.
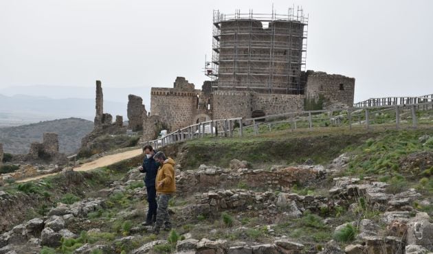
<instances>
[{"instance_id":1,"label":"rocky, grassy foreground with low stone wall remains around the two men","mask_svg":"<svg viewBox=\"0 0 433 254\"><path fill-rule=\"evenodd\" d=\"M386 133L326 165L253 168L236 159L228 167L177 165L169 206L174 227L159 235L142 225L146 189L135 168L102 169L99 185L63 170L62 185L80 182L85 191L65 188L38 216L5 224L0 254L429 253L431 137L432 130ZM0 191L1 206L18 196L10 188Z\"/></svg>"}]
</instances>

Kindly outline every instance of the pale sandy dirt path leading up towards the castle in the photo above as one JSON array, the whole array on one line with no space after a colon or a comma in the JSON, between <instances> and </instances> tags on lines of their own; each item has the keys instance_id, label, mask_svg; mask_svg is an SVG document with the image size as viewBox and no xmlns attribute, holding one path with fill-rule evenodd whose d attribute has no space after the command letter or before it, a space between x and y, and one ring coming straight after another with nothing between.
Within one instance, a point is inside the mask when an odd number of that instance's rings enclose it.
<instances>
[{"instance_id":1,"label":"pale sandy dirt path leading up towards the castle","mask_svg":"<svg viewBox=\"0 0 433 254\"><path fill-rule=\"evenodd\" d=\"M127 151L127 152L120 152L118 154L107 155L104 157L100 157L99 159L96 159L95 161L91 161L89 163L82 164L82 165L80 165L80 167L74 168L74 171L94 170L96 168L105 167L107 165L111 165L111 164L117 163L119 161L131 159L133 157L136 157L137 155L140 155L141 153L142 153L142 149L136 149L136 150L131 150L131 151ZM17 183L25 183L28 181L34 181L34 180L38 180L41 178L45 178L47 176L54 176L56 174L59 174L59 172L54 173L54 174L43 174L41 176L34 176L34 177L30 177L30 178L25 178L25 179L21 179L21 180L16 181L16 182Z\"/></svg>"}]
</instances>

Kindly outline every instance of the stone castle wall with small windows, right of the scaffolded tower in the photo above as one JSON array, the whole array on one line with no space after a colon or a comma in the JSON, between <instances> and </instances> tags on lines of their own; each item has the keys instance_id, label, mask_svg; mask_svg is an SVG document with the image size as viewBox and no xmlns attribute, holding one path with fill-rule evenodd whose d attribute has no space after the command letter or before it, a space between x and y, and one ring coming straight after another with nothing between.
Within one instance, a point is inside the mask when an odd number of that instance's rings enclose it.
<instances>
[{"instance_id":1,"label":"stone castle wall with small windows, right of the scaffolded tower","mask_svg":"<svg viewBox=\"0 0 433 254\"><path fill-rule=\"evenodd\" d=\"M320 95L330 104L353 106L355 78L325 72L310 72L307 76L307 98L318 100Z\"/></svg>"}]
</instances>

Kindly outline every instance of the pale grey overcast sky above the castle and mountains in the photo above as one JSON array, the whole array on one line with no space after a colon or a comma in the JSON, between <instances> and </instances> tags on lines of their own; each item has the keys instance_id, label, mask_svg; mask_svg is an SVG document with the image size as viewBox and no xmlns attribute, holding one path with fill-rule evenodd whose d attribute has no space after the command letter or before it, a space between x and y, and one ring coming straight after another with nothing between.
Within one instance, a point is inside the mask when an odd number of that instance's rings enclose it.
<instances>
[{"instance_id":1,"label":"pale grey overcast sky above the castle and mountains","mask_svg":"<svg viewBox=\"0 0 433 254\"><path fill-rule=\"evenodd\" d=\"M356 78L355 101L433 93L433 1L0 0L0 89L200 88L212 10L309 14L307 69ZM25 89L23 89L25 93ZM133 93L133 91L131 91ZM88 97L88 96L85 96Z\"/></svg>"}]
</instances>

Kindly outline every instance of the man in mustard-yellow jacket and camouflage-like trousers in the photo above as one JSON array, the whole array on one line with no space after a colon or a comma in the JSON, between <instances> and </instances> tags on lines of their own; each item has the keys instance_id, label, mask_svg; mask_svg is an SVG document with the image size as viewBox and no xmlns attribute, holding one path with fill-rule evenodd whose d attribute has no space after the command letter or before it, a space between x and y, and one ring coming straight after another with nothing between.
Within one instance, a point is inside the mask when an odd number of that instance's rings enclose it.
<instances>
[{"instance_id":1,"label":"man in mustard-yellow jacket and camouflage-like trousers","mask_svg":"<svg viewBox=\"0 0 433 254\"><path fill-rule=\"evenodd\" d=\"M153 159L159 163L157 177L155 179L157 191L157 220L153 233L158 234L164 224L164 230L170 231L171 222L168 215L168 200L173 197L176 192L176 178L175 178L175 161L168 157L164 152L157 152Z\"/></svg>"}]
</instances>

